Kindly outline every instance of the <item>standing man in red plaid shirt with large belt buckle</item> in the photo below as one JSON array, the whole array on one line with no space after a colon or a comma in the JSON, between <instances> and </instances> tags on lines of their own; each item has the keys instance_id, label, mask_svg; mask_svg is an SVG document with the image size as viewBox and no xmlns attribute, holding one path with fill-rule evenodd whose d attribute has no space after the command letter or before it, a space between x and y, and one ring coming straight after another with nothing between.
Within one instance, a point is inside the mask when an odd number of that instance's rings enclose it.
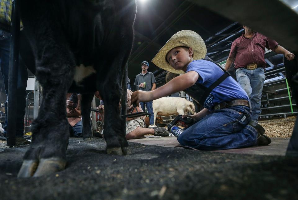
<instances>
[{"instance_id":1,"label":"standing man in red plaid shirt with large belt buckle","mask_svg":"<svg viewBox=\"0 0 298 200\"><path fill-rule=\"evenodd\" d=\"M271 40L247 26L243 26L243 28L245 32L232 43L225 70L228 70L234 62L237 81L250 98L252 120L258 122L265 81L265 47L275 53L283 54L288 60L292 60L294 54L280 46L275 40Z\"/></svg>"}]
</instances>

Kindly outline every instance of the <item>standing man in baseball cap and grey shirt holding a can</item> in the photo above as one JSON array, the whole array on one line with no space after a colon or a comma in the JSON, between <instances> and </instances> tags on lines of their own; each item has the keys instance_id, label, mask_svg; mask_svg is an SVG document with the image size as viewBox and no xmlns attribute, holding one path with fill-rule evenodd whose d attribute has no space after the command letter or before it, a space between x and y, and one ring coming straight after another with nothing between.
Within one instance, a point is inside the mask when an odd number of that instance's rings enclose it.
<instances>
[{"instance_id":1,"label":"standing man in baseball cap and grey shirt holding a can","mask_svg":"<svg viewBox=\"0 0 298 200\"><path fill-rule=\"evenodd\" d=\"M134 81L134 85L138 85L141 91L153 91L156 88L156 80L154 74L148 72L149 63L147 61L143 61L141 63L142 72L136 76ZM145 110L145 105L147 107L147 112L149 113L150 124L154 124L154 114L153 114L153 106L152 100L148 102L140 102L142 110Z\"/></svg>"}]
</instances>

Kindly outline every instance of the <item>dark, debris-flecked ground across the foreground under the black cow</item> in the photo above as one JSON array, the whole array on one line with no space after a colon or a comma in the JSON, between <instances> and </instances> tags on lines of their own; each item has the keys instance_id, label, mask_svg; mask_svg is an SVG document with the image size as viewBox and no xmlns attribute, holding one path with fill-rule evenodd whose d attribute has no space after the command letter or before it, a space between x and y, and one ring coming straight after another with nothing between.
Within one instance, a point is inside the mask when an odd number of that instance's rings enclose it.
<instances>
[{"instance_id":1,"label":"dark, debris-flecked ground across the foreground under the black cow","mask_svg":"<svg viewBox=\"0 0 298 200\"><path fill-rule=\"evenodd\" d=\"M65 170L16 178L29 145L0 152L1 199L297 199L298 159L142 145L106 155L71 138Z\"/></svg>"}]
</instances>

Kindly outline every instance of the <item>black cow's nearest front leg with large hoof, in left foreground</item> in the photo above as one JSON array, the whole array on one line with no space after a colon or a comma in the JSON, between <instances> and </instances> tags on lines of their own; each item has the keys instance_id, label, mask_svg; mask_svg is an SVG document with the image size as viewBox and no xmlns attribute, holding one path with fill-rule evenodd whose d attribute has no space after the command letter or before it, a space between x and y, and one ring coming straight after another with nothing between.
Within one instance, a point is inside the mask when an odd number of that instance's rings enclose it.
<instances>
[{"instance_id":1,"label":"black cow's nearest front leg with large hoof, in left foreground","mask_svg":"<svg viewBox=\"0 0 298 200\"><path fill-rule=\"evenodd\" d=\"M74 62L65 46L54 40L44 45L43 51L38 52L47 56L36 60L36 77L43 86L43 99L38 117L31 124L32 142L18 177L46 175L63 170L66 165L69 123L65 102L74 76Z\"/></svg>"}]
</instances>

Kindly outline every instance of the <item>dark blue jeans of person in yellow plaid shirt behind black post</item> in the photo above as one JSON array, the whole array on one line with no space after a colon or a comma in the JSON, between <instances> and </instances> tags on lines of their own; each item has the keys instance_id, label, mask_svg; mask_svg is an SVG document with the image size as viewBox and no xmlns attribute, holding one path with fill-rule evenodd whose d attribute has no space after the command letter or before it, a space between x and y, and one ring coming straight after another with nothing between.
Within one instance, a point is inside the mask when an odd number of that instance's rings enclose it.
<instances>
[{"instance_id":1,"label":"dark blue jeans of person in yellow plaid shirt behind black post","mask_svg":"<svg viewBox=\"0 0 298 200\"><path fill-rule=\"evenodd\" d=\"M9 48L10 48L10 34L0 30L0 69L4 81L5 93L8 95L8 67L9 67ZM28 72L24 63L19 59L18 78L16 88L16 136L23 137L24 133L24 115L26 107L26 87ZM5 114L7 114L7 99L5 102ZM7 133L7 121L5 120L4 137Z\"/></svg>"}]
</instances>

